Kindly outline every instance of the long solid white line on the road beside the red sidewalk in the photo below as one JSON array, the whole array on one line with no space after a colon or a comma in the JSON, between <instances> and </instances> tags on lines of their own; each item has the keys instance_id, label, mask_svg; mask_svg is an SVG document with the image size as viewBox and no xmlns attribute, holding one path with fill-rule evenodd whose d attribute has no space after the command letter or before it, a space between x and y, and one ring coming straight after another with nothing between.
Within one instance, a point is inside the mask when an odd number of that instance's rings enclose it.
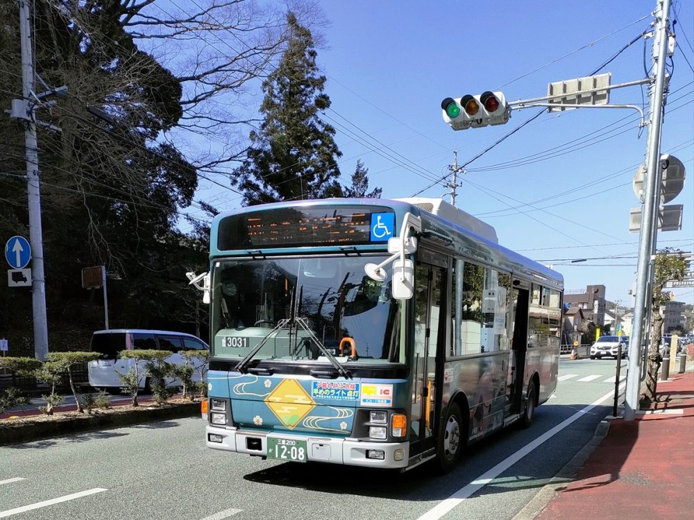
<instances>
[{"instance_id":1,"label":"long solid white line on the road beside the red sidewalk","mask_svg":"<svg viewBox=\"0 0 694 520\"><path fill-rule=\"evenodd\" d=\"M620 385L620 388L622 388L623 386L624 385ZM583 417L586 413L588 413L590 410L595 408L595 406L598 406L599 404L601 404L602 401L607 401L607 399L610 399L611 397L614 397L614 391L607 392L607 394L600 397L600 399L598 399L597 401L593 401L593 403L589 404L585 408L582 408L582 410L578 410L571 417L568 417L568 419L564 419L564 421L557 424L557 426L555 426L551 430L545 431L545 433L543 433L542 435L537 437L533 442L531 442L530 444L527 444L527 446L516 451L516 453L511 455L509 458L502 460L496 466L489 469L489 471L486 471L484 474L475 478L475 480L473 480L471 483L469 483L465 487L461 487L460 489L458 489L457 492L455 492L451 496L449 496L448 499L441 501L438 505L434 506L434 508L425 512L417 520L438 520L438 519L440 519L441 517L443 517L444 514L446 514L447 512L452 510L453 508L455 508L456 505L458 505L459 503L461 503L462 501L467 499L468 496L471 496L471 494L479 491L480 489L482 489L482 487L484 487L485 485L489 484L492 480L494 480L494 478L498 477L504 471L509 469L509 467L516 464L516 462L518 462L518 460L521 460L528 453L533 451L536 447L539 447L544 442L550 440L552 437L557 435L557 433L559 433L564 428L566 428L566 426L569 426L573 422L577 421L578 419Z\"/></svg>"}]
</instances>

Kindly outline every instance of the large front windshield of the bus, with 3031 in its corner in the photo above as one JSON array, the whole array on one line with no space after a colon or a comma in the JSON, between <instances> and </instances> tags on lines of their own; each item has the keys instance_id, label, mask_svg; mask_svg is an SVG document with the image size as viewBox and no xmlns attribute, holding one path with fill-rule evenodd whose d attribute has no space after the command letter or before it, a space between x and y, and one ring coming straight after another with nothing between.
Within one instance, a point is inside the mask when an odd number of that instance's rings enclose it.
<instances>
[{"instance_id":1,"label":"large front windshield of the bus, with 3031 in its corner","mask_svg":"<svg viewBox=\"0 0 694 520\"><path fill-rule=\"evenodd\" d=\"M340 363L404 363L400 302L390 278L373 281L366 263L386 257L225 259L212 272L212 357L328 363L300 319ZM352 355L353 340L355 355ZM340 345L344 351L341 352Z\"/></svg>"}]
</instances>

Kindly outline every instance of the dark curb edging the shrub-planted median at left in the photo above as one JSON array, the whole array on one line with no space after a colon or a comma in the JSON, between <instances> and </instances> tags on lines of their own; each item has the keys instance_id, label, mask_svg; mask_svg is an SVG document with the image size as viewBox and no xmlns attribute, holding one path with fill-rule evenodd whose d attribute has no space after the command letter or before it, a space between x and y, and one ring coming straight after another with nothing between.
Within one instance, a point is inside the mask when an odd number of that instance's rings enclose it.
<instances>
[{"instance_id":1,"label":"dark curb edging the shrub-planted median at left","mask_svg":"<svg viewBox=\"0 0 694 520\"><path fill-rule=\"evenodd\" d=\"M0 446L19 444L33 440L83 433L105 428L121 428L144 422L180 419L200 416L199 401L169 405L166 408L142 407L139 410L117 411L108 415L82 415L65 417L54 422L35 422L29 424L7 424L0 426Z\"/></svg>"}]
</instances>

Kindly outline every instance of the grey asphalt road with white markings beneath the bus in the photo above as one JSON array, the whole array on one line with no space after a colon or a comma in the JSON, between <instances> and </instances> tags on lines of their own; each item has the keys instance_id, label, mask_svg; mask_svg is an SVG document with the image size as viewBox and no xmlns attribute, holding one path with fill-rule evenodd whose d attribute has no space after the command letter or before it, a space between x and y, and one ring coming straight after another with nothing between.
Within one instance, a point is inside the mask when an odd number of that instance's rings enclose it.
<instances>
[{"instance_id":1,"label":"grey asphalt road with white markings beneath the bus","mask_svg":"<svg viewBox=\"0 0 694 520\"><path fill-rule=\"evenodd\" d=\"M596 403L613 390L614 367L562 359L534 424L475 444L446 476L213 451L196 418L3 447L0 518L511 520L611 413L611 398Z\"/></svg>"}]
</instances>

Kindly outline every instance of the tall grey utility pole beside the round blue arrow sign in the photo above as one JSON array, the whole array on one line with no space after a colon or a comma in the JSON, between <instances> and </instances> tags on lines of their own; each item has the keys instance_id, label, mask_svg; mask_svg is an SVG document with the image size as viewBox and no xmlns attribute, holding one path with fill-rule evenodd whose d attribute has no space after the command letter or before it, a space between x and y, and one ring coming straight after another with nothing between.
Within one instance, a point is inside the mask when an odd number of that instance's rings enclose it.
<instances>
[{"instance_id":1,"label":"tall grey utility pole beside the round blue arrow sign","mask_svg":"<svg viewBox=\"0 0 694 520\"><path fill-rule=\"evenodd\" d=\"M46 320L46 285L43 265L41 230L41 188L36 139L34 61L32 55L31 12L27 0L19 0L19 37L22 40L22 97L28 120L24 132L26 155L26 186L29 209L29 241L31 243L31 288L34 321L34 356L45 360L48 354L48 320Z\"/></svg>"}]
</instances>

